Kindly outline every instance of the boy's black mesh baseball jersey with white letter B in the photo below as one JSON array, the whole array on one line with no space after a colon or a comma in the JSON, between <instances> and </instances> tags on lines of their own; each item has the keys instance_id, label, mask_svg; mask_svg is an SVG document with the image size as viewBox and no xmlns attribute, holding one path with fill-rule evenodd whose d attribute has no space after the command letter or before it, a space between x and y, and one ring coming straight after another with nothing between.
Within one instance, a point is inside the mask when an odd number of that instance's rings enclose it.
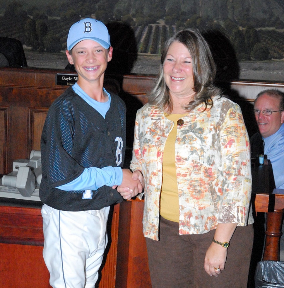
<instances>
[{"instance_id":1,"label":"boy's black mesh baseball jersey with white letter B","mask_svg":"<svg viewBox=\"0 0 284 288\"><path fill-rule=\"evenodd\" d=\"M92 191L92 199L82 199L84 191L55 188L76 179L84 168L122 167L126 108L121 98L110 95L105 119L72 87L50 106L41 137L40 200L43 203L59 210L85 211L122 201L117 190L108 186Z\"/></svg>"}]
</instances>

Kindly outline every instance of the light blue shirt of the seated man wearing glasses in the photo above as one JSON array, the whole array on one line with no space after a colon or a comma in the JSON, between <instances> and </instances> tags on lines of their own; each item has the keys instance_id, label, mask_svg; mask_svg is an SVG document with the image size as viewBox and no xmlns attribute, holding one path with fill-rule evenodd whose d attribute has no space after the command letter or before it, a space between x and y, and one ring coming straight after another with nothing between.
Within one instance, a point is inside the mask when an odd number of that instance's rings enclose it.
<instances>
[{"instance_id":1,"label":"light blue shirt of the seated man wearing glasses","mask_svg":"<svg viewBox=\"0 0 284 288\"><path fill-rule=\"evenodd\" d=\"M284 124L276 133L264 138L264 154L271 161L276 188L284 189Z\"/></svg>"}]
</instances>

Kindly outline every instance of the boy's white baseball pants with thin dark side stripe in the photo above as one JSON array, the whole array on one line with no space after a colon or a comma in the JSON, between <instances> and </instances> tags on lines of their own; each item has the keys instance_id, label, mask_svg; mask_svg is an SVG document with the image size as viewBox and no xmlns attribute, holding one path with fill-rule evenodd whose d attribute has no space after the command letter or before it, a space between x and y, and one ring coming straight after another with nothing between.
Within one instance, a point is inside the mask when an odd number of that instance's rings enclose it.
<instances>
[{"instance_id":1,"label":"boy's white baseball pants with thin dark side stripe","mask_svg":"<svg viewBox=\"0 0 284 288\"><path fill-rule=\"evenodd\" d=\"M94 288L107 245L110 207L70 212L42 206L43 258L54 288Z\"/></svg>"}]
</instances>

